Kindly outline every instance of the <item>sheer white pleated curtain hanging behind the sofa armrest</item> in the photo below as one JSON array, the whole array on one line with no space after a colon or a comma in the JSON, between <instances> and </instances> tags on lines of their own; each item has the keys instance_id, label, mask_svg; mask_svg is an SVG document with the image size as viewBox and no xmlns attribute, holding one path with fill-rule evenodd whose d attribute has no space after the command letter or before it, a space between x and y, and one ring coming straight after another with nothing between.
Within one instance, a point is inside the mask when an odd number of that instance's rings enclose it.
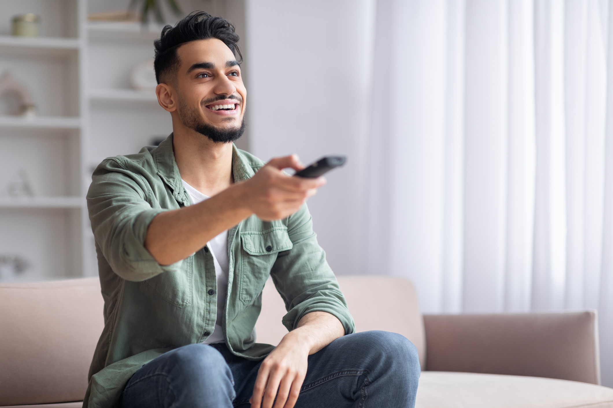
<instances>
[{"instance_id":1,"label":"sheer white pleated curtain hanging behind the sofa armrest","mask_svg":"<svg viewBox=\"0 0 613 408\"><path fill-rule=\"evenodd\" d=\"M611 11L377 2L365 272L431 313L598 309L613 386Z\"/></svg>"}]
</instances>

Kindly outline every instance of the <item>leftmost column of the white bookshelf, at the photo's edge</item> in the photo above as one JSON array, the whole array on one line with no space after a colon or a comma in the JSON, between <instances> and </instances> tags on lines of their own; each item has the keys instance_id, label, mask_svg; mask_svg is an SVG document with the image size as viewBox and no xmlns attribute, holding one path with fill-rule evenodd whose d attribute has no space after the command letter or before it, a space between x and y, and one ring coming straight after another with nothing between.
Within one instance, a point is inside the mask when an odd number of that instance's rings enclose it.
<instances>
[{"instance_id":1,"label":"leftmost column of the white bookshelf, at the photo's edge","mask_svg":"<svg viewBox=\"0 0 613 408\"><path fill-rule=\"evenodd\" d=\"M30 90L36 116L0 116L0 256L28 268L0 282L83 276L85 0L2 0L0 73ZM39 37L13 37L13 15L40 15ZM13 196L26 179L34 196ZM14 192L13 192L14 193Z\"/></svg>"}]
</instances>

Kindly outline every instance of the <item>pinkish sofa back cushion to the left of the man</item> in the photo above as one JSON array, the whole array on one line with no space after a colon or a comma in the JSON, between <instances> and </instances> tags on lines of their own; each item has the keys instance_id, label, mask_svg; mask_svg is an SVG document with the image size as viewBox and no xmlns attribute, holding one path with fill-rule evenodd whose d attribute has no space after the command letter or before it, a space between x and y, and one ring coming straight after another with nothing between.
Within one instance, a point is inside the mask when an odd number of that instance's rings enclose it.
<instances>
[{"instance_id":1,"label":"pinkish sofa back cushion to the left of the man","mask_svg":"<svg viewBox=\"0 0 613 408\"><path fill-rule=\"evenodd\" d=\"M82 400L103 306L98 278L1 284L0 406Z\"/></svg>"}]
</instances>

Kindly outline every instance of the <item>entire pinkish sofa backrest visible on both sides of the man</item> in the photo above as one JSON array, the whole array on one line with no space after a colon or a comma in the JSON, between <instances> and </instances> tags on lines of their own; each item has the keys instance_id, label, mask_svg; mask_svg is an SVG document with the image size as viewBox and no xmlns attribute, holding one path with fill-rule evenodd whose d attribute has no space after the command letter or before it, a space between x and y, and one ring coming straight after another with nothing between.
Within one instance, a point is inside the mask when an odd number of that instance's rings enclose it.
<instances>
[{"instance_id":1,"label":"entire pinkish sofa backrest visible on both sides of the man","mask_svg":"<svg viewBox=\"0 0 613 408\"><path fill-rule=\"evenodd\" d=\"M401 278L340 276L356 331L400 333L425 364L424 325L413 285ZM0 284L0 406L80 401L102 333L98 278ZM257 341L278 344L286 313L272 281L262 295Z\"/></svg>"}]
</instances>

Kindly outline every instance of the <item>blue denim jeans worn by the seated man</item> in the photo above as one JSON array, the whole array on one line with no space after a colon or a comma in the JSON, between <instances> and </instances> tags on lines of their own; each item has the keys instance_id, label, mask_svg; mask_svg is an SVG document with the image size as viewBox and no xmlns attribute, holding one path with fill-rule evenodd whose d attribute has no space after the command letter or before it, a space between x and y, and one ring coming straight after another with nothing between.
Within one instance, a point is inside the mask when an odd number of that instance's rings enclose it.
<instances>
[{"instance_id":1,"label":"blue denim jeans worn by the seated man","mask_svg":"<svg viewBox=\"0 0 613 408\"><path fill-rule=\"evenodd\" d=\"M189 344L147 363L129 380L121 408L249 407L261 361L237 357L222 344ZM296 408L413 408L419 358L404 336L343 336L308 357Z\"/></svg>"}]
</instances>

